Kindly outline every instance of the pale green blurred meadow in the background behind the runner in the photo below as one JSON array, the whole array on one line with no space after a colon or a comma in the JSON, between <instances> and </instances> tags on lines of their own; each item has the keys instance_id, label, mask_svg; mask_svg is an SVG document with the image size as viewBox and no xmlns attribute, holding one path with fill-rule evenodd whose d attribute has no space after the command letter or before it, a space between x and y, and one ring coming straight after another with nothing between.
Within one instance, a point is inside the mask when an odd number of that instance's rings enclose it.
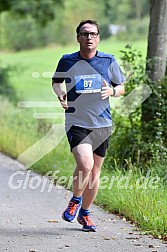
<instances>
[{"instance_id":1,"label":"pale green blurred meadow in the background behind the runner","mask_svg":"<svg viewBox=\"0 0 167 252\"><path fill-rule=\"evenodd\" d=\"M126 42L101 41L99 51L114 54L119 60L120 50L124 50ZM130 43L131 44L131 43ZM145 56L147 44L145 41L133 42L133 48L140 50ZM1 61L3 64L16 66L16 71L12 72L11 82L17 89L20 98L26 100L54 100L51 92L51 76L55 71L58 59L65 53L78 50L78 45L67 47L42 48L31 51L21 51L18 53L2 52ZM39 73L39 78L33 78L34 72ZM42 77L44 72L49 72L50 78Z\"/></svg>"}]
</instances>

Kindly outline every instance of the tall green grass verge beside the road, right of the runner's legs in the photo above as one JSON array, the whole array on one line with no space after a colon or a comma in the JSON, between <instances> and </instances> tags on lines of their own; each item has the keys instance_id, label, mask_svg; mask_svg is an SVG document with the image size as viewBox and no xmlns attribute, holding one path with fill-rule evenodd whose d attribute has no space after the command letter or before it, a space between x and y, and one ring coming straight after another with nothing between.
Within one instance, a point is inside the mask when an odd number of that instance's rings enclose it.
<instances>
[{"instance_id":1,"label":"tall green grass verge beside the road, right of the runner's legs","mask_svg":"<svg viewBox=\"0 0 167 252\"><path fill-rule=\"evenodd\" d=\"M111 172L104 168L103 176L110 179L107 184L102 184L96 198L97 204L108 211L122 214L145 233L156 237L167 234L167 188L163 188L161 180L158 181L151 174L147 178L135 170L122 172L116 169Z\"/></svg>"}]
</instances>

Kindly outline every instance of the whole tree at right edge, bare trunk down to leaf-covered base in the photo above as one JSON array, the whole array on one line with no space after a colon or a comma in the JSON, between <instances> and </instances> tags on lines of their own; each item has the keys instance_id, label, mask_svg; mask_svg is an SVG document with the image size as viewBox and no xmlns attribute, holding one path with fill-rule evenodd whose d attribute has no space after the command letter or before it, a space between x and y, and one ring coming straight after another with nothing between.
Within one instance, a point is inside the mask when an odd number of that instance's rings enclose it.
<instances>
[{"instance_id":1,"label":"whole tree at right edge, bare trunk down to leaf-covered base","mask_svg":"<svg viewBox=\"0 0 167 252\"><path fill-rule=\"evenodd\" d=\"M146 74L152 94L142 104L142 136L148 157L167 161L167 0L150 0Z\"/></svg>"}]
</instances>

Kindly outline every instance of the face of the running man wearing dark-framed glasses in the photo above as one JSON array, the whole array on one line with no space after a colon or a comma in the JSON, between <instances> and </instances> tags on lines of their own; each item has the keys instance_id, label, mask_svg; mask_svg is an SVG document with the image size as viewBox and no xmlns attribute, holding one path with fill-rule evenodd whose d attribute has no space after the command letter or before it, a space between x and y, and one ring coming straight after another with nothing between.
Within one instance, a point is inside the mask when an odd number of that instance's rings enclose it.
<instances>
[{"instance_id":1,"label":"face of the running man wearing dark-framed glasses","mask_svg":"<svg viewBox=\"0 0 167 252\"><path fill-rule=\"evenodd\" d=\"M80 44L81 49L90 51L95 50L100 41L97 27L92 24L84 24L80 28L80 34L77 37L77 41Z\"/></svg>"}]
</instances>

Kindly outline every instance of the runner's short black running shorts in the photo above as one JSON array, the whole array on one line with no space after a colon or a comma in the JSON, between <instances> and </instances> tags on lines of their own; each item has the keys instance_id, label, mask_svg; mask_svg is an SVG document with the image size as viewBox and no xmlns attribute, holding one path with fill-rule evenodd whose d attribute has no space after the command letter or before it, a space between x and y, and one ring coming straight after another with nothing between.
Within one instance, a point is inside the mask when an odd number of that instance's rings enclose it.
<instances>
[{"instance_id":1,"label":"runner's short black running shorts","mask_svg":"<svg viewBox=\"0 0 167 252\"><path fill-rule=\"evenodd\" d=\"M73 125L67 132L71 151L79 144L89 143L93 152L101 157L105 157L110 135L111 127L85 129Z\"/></svg>"}]
</instances>

